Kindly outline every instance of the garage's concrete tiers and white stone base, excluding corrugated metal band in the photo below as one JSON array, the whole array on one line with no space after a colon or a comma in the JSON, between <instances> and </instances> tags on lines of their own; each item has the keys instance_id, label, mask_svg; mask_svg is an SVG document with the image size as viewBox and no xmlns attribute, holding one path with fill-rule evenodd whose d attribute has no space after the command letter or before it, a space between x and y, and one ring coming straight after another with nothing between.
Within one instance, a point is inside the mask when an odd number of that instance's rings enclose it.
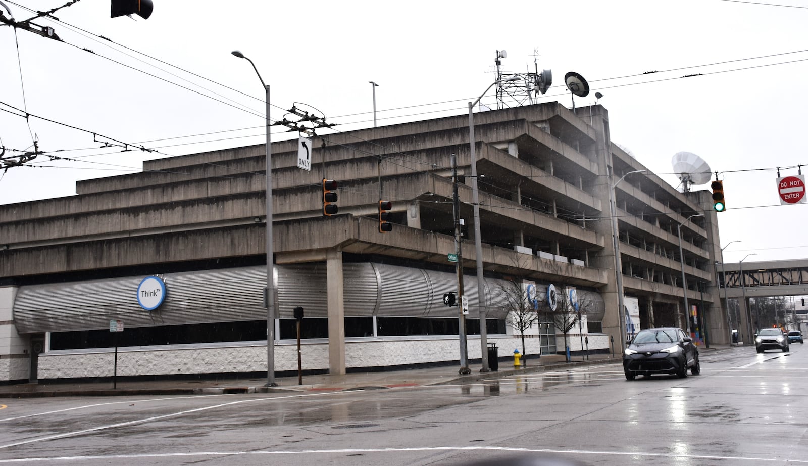
<instances>
[{"instance_id":1,"label":"garage's concrete tiers and white stone base, excluding corrugated metal band","mask_svg":"<svg viewBox=\"0 0 808 466\"><path fill-rule=\"evenodd\" d=\"M606 311L602 332L587 337L591 349L608 350L610 337L619 341L622 325L610 191L625 173L645 167L612 144L608 112L600 105L577 112L558 103L481 112L475 116L475 139L486 277L595 290ZM305 172L297 168L297 140L272 145L276 264L322 262L328 270L329 338L307 342L304 360L317 361L313 369L338 374L357 367L457 360L457 337L346 339L342 265L391 261L451 271L450 159L456 155L461 218L469 225L462 266L466 274L473 273L477 258L467 116L330 134L316 138L314 147L312 170ZM6 286L0 293L94 277L259 265L265 257L265 175L263 145L238 147L151 160L140 173L80 181L73 197L0 205L0 286ZM323 178L339 182L339 214L332 217L322 216ZM728 342L714 287L720 241L709 193L679 193L650 172L626 176L613 191L625 294L639 299L642 325L684 328L682 296L687 293L710 340ZM390 233L378 231L379 199L393 202ZM701 213L704 218L686 221ZM465 280L473 281L473 275ZM32 337L42 337L11 331L14 296L9 293L0 294L0 312L7 314L0 325L9 330L9 337L0 335L0 362L20 354ZM436 299L441 293L436 290ZM478 311L473 306L472 315ZM569 337L571 349L580 350L579 333ZM520 347L514 336L507 338L510 343L500 345L500 355ZM473 337L468 347L469 358L480 357ZM296 354L288 353L286 342L277 348L277 370L291 370ZM92 362L86 367L97 368L79 370L82 358ZM39 357L40 377L95 376L105 373L108 358L104 351L48 349ZM171 374L172 366L187 373L266 371L266 347L252 344L238 349L129 348L119 358L119 374ZM19 368L14 375L11 366L0 369L2 379L19 377Z\"/></svg>"}]
</instances>

